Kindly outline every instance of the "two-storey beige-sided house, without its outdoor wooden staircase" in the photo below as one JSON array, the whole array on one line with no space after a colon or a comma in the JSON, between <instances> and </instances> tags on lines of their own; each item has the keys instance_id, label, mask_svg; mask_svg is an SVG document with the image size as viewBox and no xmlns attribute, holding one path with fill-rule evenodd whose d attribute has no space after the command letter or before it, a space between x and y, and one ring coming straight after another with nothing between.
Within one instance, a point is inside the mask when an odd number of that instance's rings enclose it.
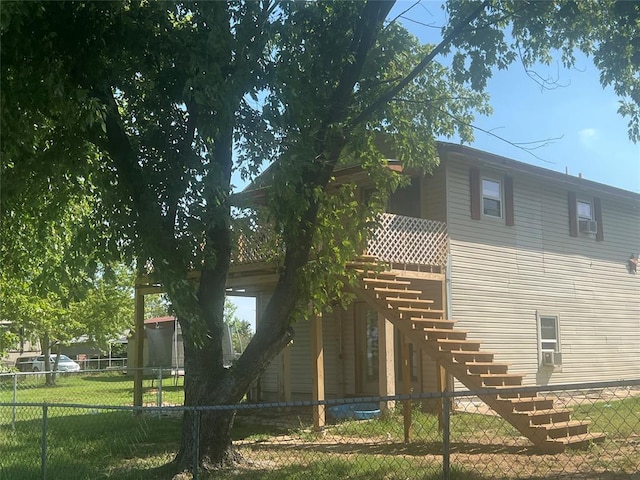
<instances>
[{"instance_id":1,"label":"two-storey beige-sided house, without its outdoor wooden staircase","mask_svg":"<svg viewBox=\"0 0 640 480\"><path fill-rule=\"evenodd\" d=\"M523 385L637 378L640 195L461 145L438 152L432 175L389 200L388 235L367 253L420 283L429 316L454 320ZM269 291L256 290L259 318ZM381 315L361 299L323 316L327 397L399 391L399 335ZM311 329L296 326L261 398L310 398ZM436 388L433 360L409 350L413 387Z\"/></svg>"}]
</instances>

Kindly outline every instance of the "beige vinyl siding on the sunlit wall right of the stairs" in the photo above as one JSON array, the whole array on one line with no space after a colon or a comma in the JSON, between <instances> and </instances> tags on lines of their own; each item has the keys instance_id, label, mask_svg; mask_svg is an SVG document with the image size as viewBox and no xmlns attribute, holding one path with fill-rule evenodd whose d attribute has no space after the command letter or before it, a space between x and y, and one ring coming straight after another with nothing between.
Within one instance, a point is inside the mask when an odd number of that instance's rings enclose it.
<instances>
[{"instance_id":1,"label":"beige vinyl siding on the sunlit wall right of the stairs","mask_svg":"<svg viewBox=\"0 0 640 480\"><path fill-rule=\"evenodd\" d=\"M569 236L569 186L514 177L515 225L471 220L468 165L447 165L452 317L525 384L640 376L640 276L626 271L640 245L632 200L595 191L604 241ZM505 173L481 168L481 174ZM575 188L575 187L574 187ZM563 366L540 368L536 312L558 315Z\"/></svg>"}]
</instances>

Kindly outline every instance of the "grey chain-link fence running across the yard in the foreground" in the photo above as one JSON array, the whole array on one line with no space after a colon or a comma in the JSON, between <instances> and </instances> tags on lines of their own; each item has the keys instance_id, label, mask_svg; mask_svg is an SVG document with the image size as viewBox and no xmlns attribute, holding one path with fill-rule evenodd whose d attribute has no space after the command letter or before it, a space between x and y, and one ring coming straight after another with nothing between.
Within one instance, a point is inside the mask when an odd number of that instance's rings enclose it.
<instances>
[{"instance_id":1,"label":"grey chain-link fence running across the yard in the foreground","mask_svg":"<svg viewBox=\"0 0 640 480\"><path fill-rule=\"evenodd\" d=\"M61 377L55 387L18 388L17 402L7 388L13 380L3 378L0 479L172 478L165 465L179 448L182 413L189 408L158 403L158 380L151 375L145 379L149 406L133 407L132 380L122 377L128 399L110 376L84 374L75 381L91 388L76 385L75 392L84 392L76 393L76 402L65 393L57 403L51 392L70 389L64 380L73 376ZM173 381L162 379L163 397ZM244 461L194 478L640 479L640 380L510 389L532 390L571 407L573 418L606 434L604 441L540 453L479 400L486 391L246 403L233 407L234 446ZM202 411L229 408L190 410L197 421ZM326 412L321 429L313 427L314 409Z\"/></svg>"}]
</instances>

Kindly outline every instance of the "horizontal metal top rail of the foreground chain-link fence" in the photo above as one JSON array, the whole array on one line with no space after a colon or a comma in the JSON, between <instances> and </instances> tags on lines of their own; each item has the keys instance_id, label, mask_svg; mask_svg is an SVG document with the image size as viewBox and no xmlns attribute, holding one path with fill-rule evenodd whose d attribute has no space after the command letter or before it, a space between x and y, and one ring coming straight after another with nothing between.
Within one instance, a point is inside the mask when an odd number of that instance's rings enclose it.
<instances>
[{"instance_id":1,"label":"horizontal metal top rail of the foreground chain-link fence","mask_svg":"<svg viewBox=\"0 0 640 480\"><path fill-rule=\"evenodd\" d=\"M581 390L605 390L608 388L640 387L640 379L621 380L611 382L588 382L570 383L561 385L545 385L531 387L500 388L500 393L518 392L577 392ZM480 390L469 390L461 392L428 392L415 393L411 395L389 395L389 396L367 396L353 397L346 399L329 400L301 400L293 402L262 402L262 403L240 403L237 405L170 405L170 406L133 406L133 405L100 405L82 403L51 403L51 402L0 402L0 407L55 407L55 408L83 408L87 410L119 410L119 411L141 411L153 412L185 412L185 411L212 411L212 410L259 410L264 408L286 408L286 407L314 407L319 405L334 406L353 403L377 403L403 400L424 400L443 398L463 398L482 397L495 395L495 388L484 388Z\"/></svg>"}]
</instances>

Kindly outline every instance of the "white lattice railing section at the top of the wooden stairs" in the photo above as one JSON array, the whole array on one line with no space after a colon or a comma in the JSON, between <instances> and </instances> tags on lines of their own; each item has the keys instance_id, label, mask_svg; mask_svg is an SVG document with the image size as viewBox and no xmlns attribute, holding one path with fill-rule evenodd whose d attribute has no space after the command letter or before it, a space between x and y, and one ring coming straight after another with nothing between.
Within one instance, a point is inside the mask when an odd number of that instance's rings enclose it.
<instances>
[{"instance_id":1,"label":"white lattice railing section at the top of the wooden stairs","mask_svg":"<svg viewBox=\"0 0 640 480\"><path fill-rule=\"evenodd\" d=\"M369 239L367 255L391 263L444 267L448 249L446 223L383 213Z\"/></svg>"}]
</instances>

